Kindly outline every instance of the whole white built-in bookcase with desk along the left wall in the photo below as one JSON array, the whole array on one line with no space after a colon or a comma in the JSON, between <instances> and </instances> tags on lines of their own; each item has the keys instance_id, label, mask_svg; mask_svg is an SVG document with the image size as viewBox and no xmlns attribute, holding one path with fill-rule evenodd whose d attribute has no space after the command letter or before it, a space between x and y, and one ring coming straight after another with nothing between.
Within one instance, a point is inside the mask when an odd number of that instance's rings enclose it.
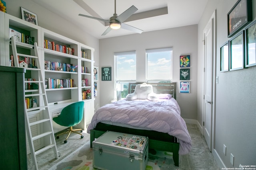
<instances>
[{"instance_id":1,"label":"whole white built-in bookcase with desk along the left wall","mask_svg":"<svg viewBox=\"0 0 256 170\"><path fill-rule=\"evenodd\" d=\"M35 42L39 47L39 61L42 64L41 69L44 69L44 61L52 61L58 63L67 63L74 64L77 66L75 68L75 72L69 71L58 71L58 70L43 70L43 78L44 80L47 78L53 79L73 79L74 86L66 87L66 88L46 88L46 94L48 99L49 110L53 116L57 116L62 108L67 106L72 102L84 101L85 109L84 109L84 120L78 125L79 128L86 129L86 124L90 123L92 115L94 114L94 86L93 86L93 53L94 49L88 47L84 44L81 44L77 41L64 37L58 33L54 33L48 29L44 29L38 25L34 25L27 21L24 21L20 18L16 18L9 14L0 12L0 65L10 66L10 55L12 55L12 48L10 46L10 37L9 37L9 28L15 29L20 33L25 33L26 35L30 35L34 37ZM59 45L66 45L74 49L74 55L54 51L52 49L44 48L44 40L48 39L49 41L53 41ZM17 43L18 44L18 43ZM29 46L29 45L28 45ZM18 51L22 51L22 53L27 55L34 55L33 50L24 47L18 47ZM87 59L82 58L81 51L87 54ZM81 66L86 66L88 68L87 73L82 73ZM33 74L32 71L26 69L25 78L35 78L36 80L38 75ZM83 86L82 79L88 79L88 86ZM28 83L28 82L24 82ZM36 83L36 82L34 82ZM91 90L91 98L90 99L82 99L82 92L84 90ZM34 90L25 90L25 94L31 94ZM37 98L37 105L42 106L43 100L42 98ZM30 111L29 113L30 121L37 121L39 119L43 119L43 109ZM57 125L55 122L53 123L54 133L57 133L66 127L61 127ZM33 134L36 135L38 132L43 131L43 125L35 125L32 131ZM38 139L38 141L34 141L35 149L40 149L44 147L44 140ZM27 147L29 148L29 147ZM29 150L28 150L29 151Z\"/></svg>"}]
</instances>

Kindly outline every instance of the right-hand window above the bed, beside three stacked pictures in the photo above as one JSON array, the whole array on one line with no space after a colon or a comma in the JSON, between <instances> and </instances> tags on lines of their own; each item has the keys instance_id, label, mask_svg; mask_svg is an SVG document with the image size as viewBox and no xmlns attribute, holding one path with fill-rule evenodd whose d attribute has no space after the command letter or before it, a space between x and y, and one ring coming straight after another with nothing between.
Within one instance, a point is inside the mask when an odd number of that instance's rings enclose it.
<instances>
[{"instance_id":1,"label":"right-hand window above the bed, beside three stacked pictures","mask_svg":"<svg viewBox=\"0 0 256 170\"><path fill-rule=\"evenodd\" d=\"M147 82L172 81L172 48L146 50Z\"/></svg>"}]
</instances>

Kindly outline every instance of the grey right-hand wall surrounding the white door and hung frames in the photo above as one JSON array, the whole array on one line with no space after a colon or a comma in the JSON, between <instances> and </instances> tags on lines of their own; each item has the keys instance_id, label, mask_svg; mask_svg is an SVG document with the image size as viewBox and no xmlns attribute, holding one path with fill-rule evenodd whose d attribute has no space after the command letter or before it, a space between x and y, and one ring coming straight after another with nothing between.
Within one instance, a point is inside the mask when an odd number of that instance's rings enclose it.
<instances>
[{"instance_id":1,"label":"grey right-hand wall surrounding the white door and hung frames","mask_svg":"<svg viewBox=\"0 0 256 170\"><path fill-rule=\"evenodd\" d=\"M198 23L198 122L202 125L202 31L210 16L216 9L216 112L214 143L212 153L220 167L233 166L230 153L234 155L234 167L256 164L256 66L242 70L220 72L220 47L230 38L227 37L227 14L237 0L208 0L206 9ZM253 18L256 14L256 3L253 2ZM223 154L226 145L226 156ZM222 164L223 163L223 164Z\"/></svg>"}]
</instances>

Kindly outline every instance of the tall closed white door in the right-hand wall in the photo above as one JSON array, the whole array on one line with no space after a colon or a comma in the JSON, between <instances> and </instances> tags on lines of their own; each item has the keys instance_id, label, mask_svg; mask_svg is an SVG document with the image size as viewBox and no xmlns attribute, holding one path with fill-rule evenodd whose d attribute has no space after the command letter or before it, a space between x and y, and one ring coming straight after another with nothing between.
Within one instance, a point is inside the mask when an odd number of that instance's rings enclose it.
<instances>
[{"instance_id":1,"label":"tall closed white door in the right-hand wall","mask_svg":"<svg viewBox=\"0 0 256 170\"><path fill-rule=\"evenodd\" d=\"M212 150L212 80L214 54L214 19L211 18L204 29L204 137Z\"/></svg>"}]
</instances>

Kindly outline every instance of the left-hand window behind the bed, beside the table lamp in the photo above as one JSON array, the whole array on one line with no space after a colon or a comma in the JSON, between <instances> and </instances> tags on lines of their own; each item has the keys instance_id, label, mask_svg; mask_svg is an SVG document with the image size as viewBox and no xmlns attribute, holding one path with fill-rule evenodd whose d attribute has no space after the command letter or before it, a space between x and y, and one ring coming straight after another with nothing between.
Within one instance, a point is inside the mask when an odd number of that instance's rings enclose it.
<instances>
[{"instance_id":1,"label":"left-hand window behind the bed, beside the table lamp","mask_svg":"<svg viewBox=\"0 0 256 170\"><path fill-rule=\"evenodd\" d=\"M135 51L114 53L115 57L115 80L124 85L121 97L128 94L129 82L136 81L136 53Z\"/></svg>"}]
</instances>

